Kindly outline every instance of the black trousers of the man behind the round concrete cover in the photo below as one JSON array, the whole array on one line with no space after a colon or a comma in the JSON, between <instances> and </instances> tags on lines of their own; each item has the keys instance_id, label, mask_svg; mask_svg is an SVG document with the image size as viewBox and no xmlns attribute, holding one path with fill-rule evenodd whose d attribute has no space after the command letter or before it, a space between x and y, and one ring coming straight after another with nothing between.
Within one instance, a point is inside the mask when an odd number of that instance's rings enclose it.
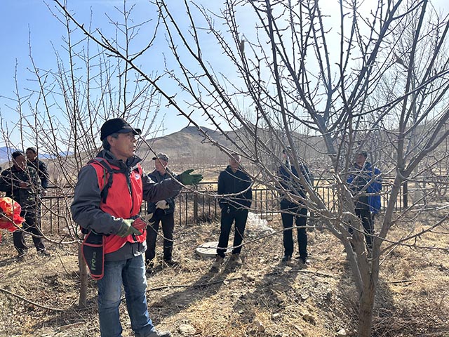
<instances>
[{"instance_id":1,"label":"black trousers of the man behind the round concrete cover","mask_svg":"<svg viewBox=\"0 0 449 337\"><path fill-rule=\"evenodd\" d=\"M228 213L229 210L229 213ZM227 251L227 242L229 241L229 234L231 234L232 223L234 223L234 249L233 254L241 252L241 243L243 242L243 234L245 233L246 219L248 218L248 209L222 209L221 225L220 225L220 239L218 239L217 255L222 258L225 257Z\"/></svg>"}]
</instances>

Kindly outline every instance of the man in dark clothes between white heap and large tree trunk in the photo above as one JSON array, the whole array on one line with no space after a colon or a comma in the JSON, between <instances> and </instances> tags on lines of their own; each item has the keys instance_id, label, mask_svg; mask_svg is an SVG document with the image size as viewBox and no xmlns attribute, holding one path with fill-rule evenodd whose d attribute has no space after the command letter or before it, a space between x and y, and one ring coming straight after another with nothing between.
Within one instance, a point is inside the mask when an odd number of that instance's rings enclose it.
<instances>
[{"instance_id":1,"label":"man in dark clothes between white heap and large tree trunk","mask_svg":"<svg viewBox=\"0 0 449 337\"><path fill-rule=\"evenodd\" d=\"M287 148L291 151L290 148ZM296 194L302 198L306 197L306 191L304 186L299 183L297 178L299 177L294 165L290 164L290 157L288 157L288 151L283 150L283 165L279 167L278 176L281 178L281 185L284 189L288 190L292 194ZM302 176L311 184L311 174L306 164L300 164L300 170ZM295 176L294 178L292 176ZM283 225L283 257L282 261L287 262L291 260L293 255L293 221L297 227L297 243L300 252L299 260L302 264L309 263L307 259L307 207L301 201L293 202L286 198L285 195L281 199L281 218Z\"/></svg>"}]
</instances>

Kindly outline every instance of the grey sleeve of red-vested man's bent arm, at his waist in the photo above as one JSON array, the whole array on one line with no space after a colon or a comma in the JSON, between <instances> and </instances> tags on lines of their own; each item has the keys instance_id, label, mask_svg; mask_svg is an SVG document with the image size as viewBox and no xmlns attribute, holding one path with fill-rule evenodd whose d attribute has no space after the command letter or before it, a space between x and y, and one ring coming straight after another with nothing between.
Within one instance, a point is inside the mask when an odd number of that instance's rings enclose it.
<instances>
[{"instance_id":1,"label":"grey sleeve of red-vested man's bent arm, at his waist","mask_svg":"<svg viewBox=\"0 0 449 337\"><path fill-rule=\"evenodd\" d=\"M72 219L81 227L99 234L116 234L121 218L114 218L100 209L100 187L95 169L84 166L78 173L74 199L70 210Z\"/></svg>"}]
</instances>

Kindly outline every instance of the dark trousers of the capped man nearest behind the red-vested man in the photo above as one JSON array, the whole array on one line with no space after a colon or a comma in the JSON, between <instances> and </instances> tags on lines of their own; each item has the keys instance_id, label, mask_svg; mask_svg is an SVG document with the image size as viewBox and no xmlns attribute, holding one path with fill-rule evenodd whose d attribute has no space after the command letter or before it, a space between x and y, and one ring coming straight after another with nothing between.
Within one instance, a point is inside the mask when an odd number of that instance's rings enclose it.
<instances>
[{"instance_id":1,"label":"dark trousers of the capped man nearest behind the red-vested man","mask_svg":"<svg viewBox=\"0 0 449 337\"><path fill-rule=\"evenodd\" d=\"M145 260L151 261L156 256L156 239L159 231L159 224L162 223L163 233L163 259L170 260L173 253L173 231L175 230L175 217L173 213L163 214L163 211L156 210L153 216L155 222L147 227L147 251Z\"/></svg>"}]
</instances>

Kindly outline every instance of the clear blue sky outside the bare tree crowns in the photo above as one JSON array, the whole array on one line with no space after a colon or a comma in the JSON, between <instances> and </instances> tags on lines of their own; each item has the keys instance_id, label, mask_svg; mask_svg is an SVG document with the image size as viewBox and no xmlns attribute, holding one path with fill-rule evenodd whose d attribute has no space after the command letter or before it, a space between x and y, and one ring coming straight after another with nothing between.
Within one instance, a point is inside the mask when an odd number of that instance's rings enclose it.
<instances>
[{"instance_id":1,"label":"clear blue sky outside the bare tree crowns","mask_svg":"<svg viewBox=\"0 0 449 337\"><path fill-rule=\"evenodd\" d=\"M172 6L176 4L171 0L168 4ZM206 1L207 4L221 4L222 1L214 2L215 0ZM332 6L337 4L337 0L327 0L332 2ZM69 8L72 8L74 15L80 22L88 24L90 21L90 11L93 11L93 26L101 27L104 32L108 32L108 29L112 29L112 25L109 24L108 19L105 18L105 13L114 15L116 9L114 6L123 6L123 0L67 0ZM138 6L134 12L136 22L140 20L147 20L152 18L154 13L150 12L149 6L147 6L147 0L133 0L128 1L136 3ZM441 8L443 13L449 13L449 1L447 0L435 0L432 1L436 8ZM326 3L326 1L320 1L320 4ZM65 36L65 27L53 17L48 6L55 8L52 0L44 2L43 0L1 0L0 11L0 42L2 46L2 52L0 53L0 115L1 124L3 127L8 126L10 133L13 135L12 143L20 143L20 138L15 132L11 132L11 128L17 123L18 118L15 110L15 103L10 98L14 98L15 91L15 69L17 66L17 78L19 84L20 93L23 95L26 93L26 88L32 85L29 79L32 75L27 70L31 63L29 60L29 41L32 47L32 55L36 65L43 69L55 69L55 55L53 46L60 50L62 45L61 38ZM328 8L332 7L328 6ZM173 8L176 8L173 6ZM326 6L325 6L326 8ZM183 11L178 13L180 20L185 20ZM244 20L241 25L251 25L251 20ZM161 51L164 46L163 39L156 41L159 44ZM158 47L159 47L158 46ZM203 47L206 46L203 45ZM213 46L209 46L213 47ZM210 48L209 53L220 53L219 48ZM145 65L148 69L159 70L163 69L163 55L162 53L152 54L151 60L147 60L148 64ZM220 69L220 58L214 58L214 62L217 62L218 69ZM223 71L220 69L220 71ZM173 88L173 94L175 88ZM13 109L11 109L11 107ZM163 122L163 134L173 133L179 131L181 128L187 126L187 121L184 117L178 117L177 113L173 110L166 110L163 112L165 120ZM162 115L161 115L162 117ZM201 123L201 116L197 117L200 124L208 126L207 122ZM161 123L161 120L159 121ZM161 133L162 134L162 133ZM161 136L159 134L158 136ZM0 146L3 146L5 140L0 134ZM27 144L25 144L27 146Z\"/></svg>"}]
</instances>

